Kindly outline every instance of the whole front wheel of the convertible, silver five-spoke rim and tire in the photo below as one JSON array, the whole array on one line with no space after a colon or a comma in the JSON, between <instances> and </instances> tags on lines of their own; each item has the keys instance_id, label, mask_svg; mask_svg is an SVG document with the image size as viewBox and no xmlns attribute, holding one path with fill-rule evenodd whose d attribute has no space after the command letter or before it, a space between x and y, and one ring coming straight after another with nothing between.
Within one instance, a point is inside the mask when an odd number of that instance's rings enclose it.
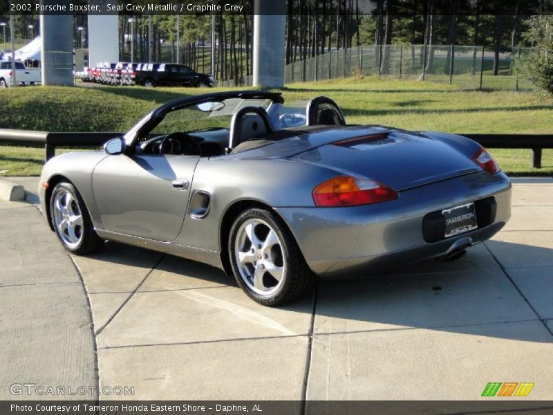
<instances>
[{"instance_id":1,"label":"whole front wheel of the convertible, silver five-spoke rim and tire","mask_svg":"<svg viewBox=\"0 0 553 415\"><path fill-rule=\"evenodd\" d=\"M84 255L94 252L104 241L94 230L81 195L71 183L58 183L50 197L50 221L59 241L69 252Z\"/></svg>"}]
</instances>

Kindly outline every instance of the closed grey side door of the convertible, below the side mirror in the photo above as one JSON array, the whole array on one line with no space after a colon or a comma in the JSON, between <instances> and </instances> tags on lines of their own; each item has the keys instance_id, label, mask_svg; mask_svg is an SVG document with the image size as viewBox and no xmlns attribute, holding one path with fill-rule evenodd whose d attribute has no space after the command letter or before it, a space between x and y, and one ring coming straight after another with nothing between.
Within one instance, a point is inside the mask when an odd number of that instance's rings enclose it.
<instances>
[{"instance_id":1,"label":"closed grey side door of the convertible, below the side mirror","mask_svg":"<svg viewBox=\"0 0 553 415\"><path fill-rule=\"evenodd\" d=\"M104 230L173 241L185 219L199 156L111 155L93 172L93 191Z\"/></svg>"}]
</instances>

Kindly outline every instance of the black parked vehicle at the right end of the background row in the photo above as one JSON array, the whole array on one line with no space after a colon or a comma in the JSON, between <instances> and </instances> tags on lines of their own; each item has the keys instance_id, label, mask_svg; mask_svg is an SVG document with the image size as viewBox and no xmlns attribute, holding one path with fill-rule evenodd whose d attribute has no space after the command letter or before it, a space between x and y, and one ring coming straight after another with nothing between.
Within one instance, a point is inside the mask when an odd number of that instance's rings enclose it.
<instances>
[{"instance_id":1,"label":"black parked vehicle at the right end of the background row","mask_svg":"<svg viewBox=\"0 0 553 415\"><path fill-rule=\"evenodd\" d=\"M145 71L136 71L134 83L144 86L213 86L209 75L197 73L188 66L179 64L160 64L157 68L156 65L148 65Z\"/></svg>"}]
</instances>

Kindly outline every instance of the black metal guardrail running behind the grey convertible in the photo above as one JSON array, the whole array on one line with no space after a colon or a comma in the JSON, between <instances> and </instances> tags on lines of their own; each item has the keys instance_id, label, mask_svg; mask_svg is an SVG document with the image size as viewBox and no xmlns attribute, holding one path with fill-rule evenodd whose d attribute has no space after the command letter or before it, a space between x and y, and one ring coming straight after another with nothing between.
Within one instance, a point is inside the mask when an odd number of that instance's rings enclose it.
<instances>
[{"instance_id":1,"label":"black metal guardrail running behind the grey convertible","mask_svg":"<svg viewBox=\"0 0 553 415\"><path fill-rule=\"evenodd\" d=\"M55 156L55 148L100 147L110 138L123 133L51 133L47 131L26 131L0 129L0 142L11 145L41 147L46 150L46 161ZM532 149L532 167L541 168L542 149L553 149L553 134L460 134L491 149Z\"/></svg>"}]
</instances>

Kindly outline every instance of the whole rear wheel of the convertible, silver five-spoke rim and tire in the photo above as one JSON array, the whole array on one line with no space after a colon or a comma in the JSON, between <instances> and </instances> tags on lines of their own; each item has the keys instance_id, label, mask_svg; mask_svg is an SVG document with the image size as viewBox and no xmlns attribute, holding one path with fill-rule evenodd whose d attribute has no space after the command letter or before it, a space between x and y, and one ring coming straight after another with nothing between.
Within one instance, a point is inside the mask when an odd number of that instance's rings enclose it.
<instances>
[{"instance_id":1,"label":"whole rear wheel of the convertible, silver five-spoke rim and tire","mask_svg":"<svg viewBox=\"0 0 553 415\"><path fill-rule=\"evenodd\" d=\"M254 208L238 216L229 255L238 285L265 306L291 302L315 283L292 233L269 210Z\"/></svg>"}]
</instances>

